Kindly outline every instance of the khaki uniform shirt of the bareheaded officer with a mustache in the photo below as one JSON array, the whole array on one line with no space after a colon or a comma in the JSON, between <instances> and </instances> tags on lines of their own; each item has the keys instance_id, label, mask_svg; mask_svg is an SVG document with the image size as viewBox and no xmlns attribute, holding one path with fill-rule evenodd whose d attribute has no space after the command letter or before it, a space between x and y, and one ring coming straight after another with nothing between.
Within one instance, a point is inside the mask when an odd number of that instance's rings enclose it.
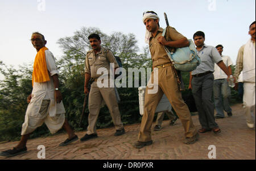
<instances>
[{"instance_id":1,"label":"khaki uniform shirt of the bareheaded officer with a mustache","mask_svg":"<svg viewBox=\"0 0 256 171\"><path fill-rule=\"evenodd\" d=\"M108 75L110 74L110 63L114 64L114 68L118 68L119 65L115 60L115 57L109 49L101 47L101 51L95 54L94 50L87 52L85 59L85 73L90 73L90 77L98 78L103 73L97 74L97 70L100 68L106 68Z\"/></svg>"}]
</instances>

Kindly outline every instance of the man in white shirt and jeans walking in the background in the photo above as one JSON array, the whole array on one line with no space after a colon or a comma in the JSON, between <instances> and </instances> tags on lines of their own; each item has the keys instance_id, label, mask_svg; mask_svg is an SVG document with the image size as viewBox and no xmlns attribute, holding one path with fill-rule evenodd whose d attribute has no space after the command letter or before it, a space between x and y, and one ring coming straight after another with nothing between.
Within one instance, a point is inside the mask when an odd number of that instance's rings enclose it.
<instances>
[{"instance_id":1,"label":"man in white shirt and jeans walking in the background","mask_svg":"<svg viewBox=\"0 0 256 171\"><path fill-rule=\"evenodd\" d=\"M222 61L228 67L228 71L230 76L232 75L231 65L233 64L232 60L229 56L222 55L223 46L221 44L216 46L218 53L220 53L222 57ZM213 82L213 97L214 97L214 105L217 114L215 115L216 119L225 118L224 110L228 113L228 116L232 116L232 109L229 105L230 98L230 87L228 85L228 81L226 78L228 76L223 72L223 70L217 65L214 64L214 82ZM223 101L222 101L223 97Z\"/></svg>"}]
</instances>

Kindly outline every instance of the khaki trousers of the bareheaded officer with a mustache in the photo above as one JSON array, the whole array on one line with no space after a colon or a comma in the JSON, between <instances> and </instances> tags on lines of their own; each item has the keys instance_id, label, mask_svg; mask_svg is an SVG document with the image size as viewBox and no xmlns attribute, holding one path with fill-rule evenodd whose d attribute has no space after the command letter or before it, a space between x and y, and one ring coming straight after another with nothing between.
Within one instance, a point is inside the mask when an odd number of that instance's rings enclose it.
<instances>
[{"instance_id":1,"label":"khaki trousers of the bareheaded officer with a mustache","mask_svg":"<svg viewBox=\"0 0 256 171\"><path fill-rule=\"evenodd\" d=\"M115 97L115 90L111 87L102 87L97 86L97 82L94 81L90 87L89 93L89 116L88 116L88 127L86 134L95 134L96 133L96 122L98 114L101 109L102 100L108 106L110 115L113 119L113 123L116 130L122 130L123 123L121 122L121 115L118 109L117 98Z\"/></svg>"}]
</instances>

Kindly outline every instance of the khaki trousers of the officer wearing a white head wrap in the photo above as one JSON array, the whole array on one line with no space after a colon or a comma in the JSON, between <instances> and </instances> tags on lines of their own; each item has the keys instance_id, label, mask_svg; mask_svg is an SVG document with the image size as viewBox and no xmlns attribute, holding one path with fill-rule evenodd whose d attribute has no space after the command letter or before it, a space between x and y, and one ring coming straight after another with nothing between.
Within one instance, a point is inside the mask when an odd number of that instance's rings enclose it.
<instances>
[{"instance_id":1,"label":"khaki trousers of the officer wearing a white head wrap","mask_svg":"<svg viewBox=\"0 0 256 171\"><path fill-rule=\"evenodd\" d=\"M151 81L155 79L153 78L154 72L151 73ZM193 125L188 106L181 97L181 92L177 86L177 80L172 66L158 69L158 91L155 94L148 93L149 89L153 89L148 87L150 85L152 85L152 83L149 82L146 87L144 114L142 116L141 131L139 132L138 141L145 142L151 140L151 126L155 109L163 94L166 94L177 116L179 116L184 127L185 137L196 135L197 130Z\"/></svg>"}]
</instances>

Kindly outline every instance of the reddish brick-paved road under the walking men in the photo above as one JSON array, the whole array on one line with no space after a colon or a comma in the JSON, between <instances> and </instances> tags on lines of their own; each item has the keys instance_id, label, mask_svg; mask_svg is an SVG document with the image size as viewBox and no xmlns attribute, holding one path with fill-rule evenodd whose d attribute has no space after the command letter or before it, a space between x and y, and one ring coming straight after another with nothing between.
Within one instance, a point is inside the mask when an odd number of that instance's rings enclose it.
<instances>
[{"instance_id":1,"label":"reddish brick-paved road under the walking men","mask_svg":"<svg viewBox=\"0 0 256 171\"><path fill-rule=\"evenodd\" d=\"M113 136L115 129L97 130L99 137L85 142L75 141L72 144L59 147L67 139L66 134L49 137L40 137L28 140L28 152L14 157L0 159L38 159L38 145L46 147L46 159L118 159L118 160L170 160L170 159L208 159L209 145L216 146L216 159L253 159L255 160L255 129L246 126L245 116L241 104L232 106L233 116L218 119L222 132L214 135L213 132L200 134L200 140L192 145L182 143L184 139L183 127L178 119L174 127L168 126L164 120L163 129L153 131L154 143L142 149L135 149L133 143L137 141L140 124L125 126L126 134ZM200 128L198 116L192 116L197 128ZM77 132L79 137L85 131ZM0 151L12 148L18 142L1 143Z\"/></svg>"}]
</instances>

